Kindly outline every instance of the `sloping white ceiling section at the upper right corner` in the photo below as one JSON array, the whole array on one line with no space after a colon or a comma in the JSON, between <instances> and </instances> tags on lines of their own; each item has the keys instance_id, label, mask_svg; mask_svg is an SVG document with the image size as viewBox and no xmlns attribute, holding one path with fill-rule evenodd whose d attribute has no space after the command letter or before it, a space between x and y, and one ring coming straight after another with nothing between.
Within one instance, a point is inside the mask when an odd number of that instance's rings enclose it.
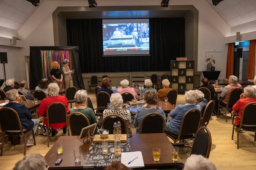
<instances>
[{"instance_id":1,"label":"sloping white ceiling section at the upper right corner","mask_svg":"<svg viewBox=\"0 0 256 170\"><path fill-rule=\"evenodd\" d=\"M256 20L256 0L224 0L216 6L207 1L231 27Z\"/></svg>"}]
</instances>

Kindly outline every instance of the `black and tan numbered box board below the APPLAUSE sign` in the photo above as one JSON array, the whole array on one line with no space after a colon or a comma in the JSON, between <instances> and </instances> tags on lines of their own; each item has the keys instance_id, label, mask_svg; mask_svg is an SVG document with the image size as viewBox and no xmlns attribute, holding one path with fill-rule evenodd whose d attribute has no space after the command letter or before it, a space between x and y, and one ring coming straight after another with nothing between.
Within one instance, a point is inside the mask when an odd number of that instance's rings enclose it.
<instances>
[{"instance_id":1,"label":"black and tan numbered box board below the APPLAUSE sign","mask_svg":"<svg viewBox=\"0 0 256 170\"><path fill-rule=\"evenodd\" d=\"M194 61L171 61L170 87L184 94L194 89Z\"/></svg>"}]
</instances>

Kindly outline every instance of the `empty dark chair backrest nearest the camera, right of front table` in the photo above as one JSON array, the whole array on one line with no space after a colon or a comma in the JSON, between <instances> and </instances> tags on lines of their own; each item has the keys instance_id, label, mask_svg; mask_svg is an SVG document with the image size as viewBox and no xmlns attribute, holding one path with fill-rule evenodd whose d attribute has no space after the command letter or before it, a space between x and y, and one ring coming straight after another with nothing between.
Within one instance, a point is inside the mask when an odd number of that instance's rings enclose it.
<instances>
[{"instance_id":1,"label":"empty dark chair backrest nearest the camera, right of front table","mask_svg":"<svg viewBox=\"0 0 256 170\"><path fill-rule=\"evenodd\" d=\"M206 158L209 158L211 143L211 133L209 129L206 127L199 128L196 132L190 155L202 155Z\"/></svg>"}]
</instances>

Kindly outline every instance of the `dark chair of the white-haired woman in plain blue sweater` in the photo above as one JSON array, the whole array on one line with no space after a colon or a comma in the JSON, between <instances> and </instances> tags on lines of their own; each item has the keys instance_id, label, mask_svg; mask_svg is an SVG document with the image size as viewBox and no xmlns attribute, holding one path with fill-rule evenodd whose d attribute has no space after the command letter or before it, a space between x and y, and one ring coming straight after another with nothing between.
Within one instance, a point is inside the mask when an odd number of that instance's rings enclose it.
<instances>
[{"instance_id":1,"label":"dark chair of the white-haired woman in plain blue sweater","mask_svg":"<svg viewBox=\"0 0 256 170\"><path fill-rule=\"evenodd\" d=\"M193 138L193 134L197 132L201 125L200 123L201 112L198 109L190 109L182 118L178 136L167 131L165 133L176 143L179 140Z\"/></svg>"}]
</instances>

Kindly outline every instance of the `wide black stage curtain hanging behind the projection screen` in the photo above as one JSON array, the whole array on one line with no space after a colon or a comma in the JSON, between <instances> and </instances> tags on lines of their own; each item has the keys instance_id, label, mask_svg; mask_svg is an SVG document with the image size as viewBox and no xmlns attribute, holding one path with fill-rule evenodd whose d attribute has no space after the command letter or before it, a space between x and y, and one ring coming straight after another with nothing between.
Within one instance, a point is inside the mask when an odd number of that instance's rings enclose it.
<instances>
[{"instance_id":1,"label":"wide black stage curtain hanging behind the projection screen","mask_svg":"<svg viewBox=\"0 0 256 170\"><path fill-rule=\"evenodd\" d=\"M185 19L150 18L150 55L103 56L102 19L66 20L67 45L79 46L83 73L170 71L170 61L185 57Z\"/></svg>"}]
</instances>

